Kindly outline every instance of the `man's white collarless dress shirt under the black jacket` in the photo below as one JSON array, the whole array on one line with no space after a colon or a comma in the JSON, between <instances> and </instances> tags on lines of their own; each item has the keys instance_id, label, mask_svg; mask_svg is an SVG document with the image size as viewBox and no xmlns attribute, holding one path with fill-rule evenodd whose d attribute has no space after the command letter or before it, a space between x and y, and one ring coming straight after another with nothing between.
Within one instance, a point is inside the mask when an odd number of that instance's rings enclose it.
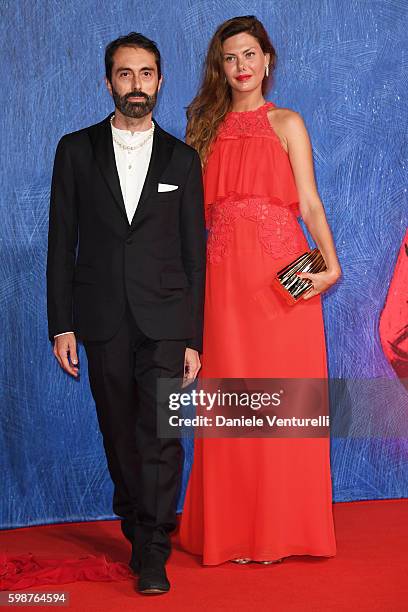
<instances>
[{"instance_id":1,"label":"man's white collarless dress shirt under the black jacket","mask_svg":"<svg viewBox=\"0 0 408 612\"><path fill-rule=\"evenodd\" d=\"M116 168L130 225L139 203L152 156L154 124L152 123L151 129L144 132L120 130L112 122L111 128ZM122 147L120 146L121 144L123 145ZM125 149L124 147L136 148ZM56 334L54 338L71 333L62 332L61 334Z\"/></svg>"}]
</instances>

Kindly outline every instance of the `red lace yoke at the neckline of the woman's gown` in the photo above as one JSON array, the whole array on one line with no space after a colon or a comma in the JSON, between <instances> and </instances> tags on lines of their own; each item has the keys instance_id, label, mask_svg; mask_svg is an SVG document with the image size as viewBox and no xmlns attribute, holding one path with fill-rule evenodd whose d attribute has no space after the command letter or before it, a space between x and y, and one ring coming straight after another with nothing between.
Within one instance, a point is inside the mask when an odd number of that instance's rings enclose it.
<instances>
[{"instance_id":1,"label":"red lace yoke at the neckline of the woman's gown","mask_svg":"<svg viewBox=\"0 0 408 612\"><path fill-rule=\"evenodd\" d=\"M267 116L273 106L272 102L266 102L254 111L229 112L219 127L217 139L253 137L277 139Z\"/></svg>"}]
</instances>

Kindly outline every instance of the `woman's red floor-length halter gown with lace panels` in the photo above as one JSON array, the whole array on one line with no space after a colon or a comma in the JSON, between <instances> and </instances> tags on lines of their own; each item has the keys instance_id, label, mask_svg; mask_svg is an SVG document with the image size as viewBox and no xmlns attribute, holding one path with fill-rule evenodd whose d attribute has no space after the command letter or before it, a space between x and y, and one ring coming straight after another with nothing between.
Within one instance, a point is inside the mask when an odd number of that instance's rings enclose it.
<instances>
[{"instance_id":1,"label":"woman's red floor-length halter gown with lace panels","mask_svg":"<svg viewBox=\"0 0 408 612\"><path fill-rule=\"evenodd\" d=\"M327 376L320 297L292 307L270 287L308 249L273 106L228 113L206 166L201 378ZM180 541L205 565L335 555L328 438L196 439Z\"/></svg>"}]
</instances>

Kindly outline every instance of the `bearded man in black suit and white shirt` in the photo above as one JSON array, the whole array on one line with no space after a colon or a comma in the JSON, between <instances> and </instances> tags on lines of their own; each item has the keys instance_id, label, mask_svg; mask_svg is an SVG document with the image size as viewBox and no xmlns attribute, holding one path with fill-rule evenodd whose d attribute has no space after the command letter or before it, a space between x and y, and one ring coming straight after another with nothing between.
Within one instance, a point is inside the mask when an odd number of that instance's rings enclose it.
<instances>
[{"instance_id":1,"label":"bearded man in black suit and white shirt","mask_svg":"<svg viewBox=\"0 0 408 612\"><path fill-rule=\"evenodd\" d=\"M141 34L106 48L115 113L59 142L51 189L50 340L78 376L85 346L113 509L132 543L143 593L170 588L178 439L157 437L158 378L188 384L200 368L205 227L197 153L152 120L160 53Z\"/></svg>"}]
</instances>

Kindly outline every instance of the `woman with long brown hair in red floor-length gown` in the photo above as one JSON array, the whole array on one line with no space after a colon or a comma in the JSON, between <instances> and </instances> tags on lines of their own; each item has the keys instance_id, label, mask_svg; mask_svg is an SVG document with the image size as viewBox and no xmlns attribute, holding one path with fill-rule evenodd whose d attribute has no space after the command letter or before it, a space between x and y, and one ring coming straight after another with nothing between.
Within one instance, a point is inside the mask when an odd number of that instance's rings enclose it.
<instances>
[{"instance_id":1,"label":"woman with long brown hair in red floor-length gown","mask_svg":"<svg viewBox=\"0 0 408 612\"><path fill-rule=\"evenodd\" d=\"M340 276L301 117L265 102L275 51L255 17L222 24L188 110L203 160L208 267L202 378L325 378L318 294ZM274 273L308 250L327 271L286 305ZM203 563L336 551L328 438L199 438L180 526Z\"/></svg>"}]
</instances>

